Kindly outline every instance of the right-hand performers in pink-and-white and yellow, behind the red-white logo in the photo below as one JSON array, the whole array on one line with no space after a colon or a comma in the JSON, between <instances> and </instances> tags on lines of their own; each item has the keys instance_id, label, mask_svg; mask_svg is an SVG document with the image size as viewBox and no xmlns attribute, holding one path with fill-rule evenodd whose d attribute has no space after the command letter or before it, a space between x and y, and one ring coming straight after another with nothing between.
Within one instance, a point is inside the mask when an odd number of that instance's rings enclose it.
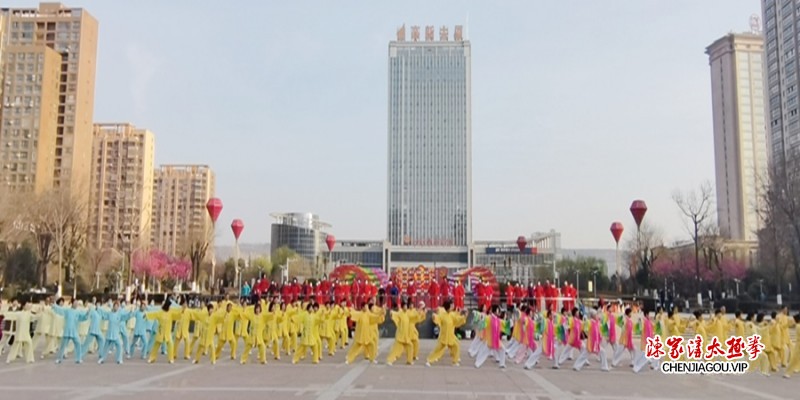
<instances>
[{"instance_id":1,"label":"right-hand performers in pink-and-white and yellow, behind the red-white logo","mask_svg":"<svg viewBox=\"0 0 800 400\"><path fill-rule=\"evenodd\" d=\"M705 352L712 351L710 347L713 347L716 353L711 354L710 360L724 360L723 355L737 342L727 343L722 338L729 337L729 334L739 338L758 335L760 344L757 348L734 349L743 352L745 359L749 360L749 371L760 371L769 376L783 368L785 378L800 372L800 314L789 317L786 308L772 312L769 318L764 314L743 316L737 312L733 319L725 316L724 308L709 318L701 311L696 311L691 318L682 318L677 310L666 314L659 309L654 314L627 308L616 313L614 308L614 305L608 305L591 309L584 317L577 308L571 312L562 309L557 314L552 311L539 313L523 306L513 312L512 318L507 318L499 307L492 306L484 312L475 312L473 321L478 332L469 354L476 358L476 367L493 357L501 368L505 368L506 359L511 358L530 369L545 358L551 361L552 368L559 369L574 359L577 352L572 367L576 371L589 365L592 355L599 361L601 371L609 371L622 363L627 354L629 367L638 373L648 364L651 369L658 368L666 357L648 357L649 340L652 344L652 340L657 338L663 344L671 336L689 336L698 343L709 344L702 348L701 358L708 359ZM792 327L797 333L794 343L789 335ZM504 343L502 337L506 335L510 340ZM639 337L638 343L635 337ZM715 341L715 338L723 342ZM680 354L678 359L686 361L688 357Z\"/></svg>"}]
</instances>

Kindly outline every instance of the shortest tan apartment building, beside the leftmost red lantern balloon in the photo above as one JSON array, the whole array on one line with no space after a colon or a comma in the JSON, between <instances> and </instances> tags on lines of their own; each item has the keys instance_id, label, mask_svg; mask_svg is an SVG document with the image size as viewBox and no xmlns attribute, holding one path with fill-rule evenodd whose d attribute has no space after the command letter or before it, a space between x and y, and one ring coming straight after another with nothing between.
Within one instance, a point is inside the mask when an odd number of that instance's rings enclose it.
<instances>
[{"instance_id":1,"label":"shortest tan apartment building, beside the leftmost red lantern balloon","mask_svg":"<svg viewBox=\"0 0 800 400\"><path fill-rule=\"evenodd\" d=\"M214 248L211 219L206 211L214 197L215 177L207 165L162 165L155 173L153 196L154 248L178 255L205 237Z\"/></svg>"}]
</instances>

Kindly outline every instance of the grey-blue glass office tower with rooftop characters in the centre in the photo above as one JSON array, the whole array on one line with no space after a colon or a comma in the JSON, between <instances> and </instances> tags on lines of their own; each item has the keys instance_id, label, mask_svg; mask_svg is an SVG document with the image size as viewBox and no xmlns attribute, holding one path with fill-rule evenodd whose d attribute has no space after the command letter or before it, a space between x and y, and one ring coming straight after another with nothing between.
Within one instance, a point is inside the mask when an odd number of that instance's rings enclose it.
<instances>
[{"instance_id":1,"label":"grey-blue glass office tower with rooftop characters in the centre","mask_svg":"<svg viewBox=\"0 0 800 400\"><path fill-rule=\"evenodd\" d=\"M424 37L413 26L407 40L404 26L389 43L392 246L464 248L472 241L470 43L460 26L452 39L447 27L434 35L433 26Z\"/></svg>"}]
</instances>

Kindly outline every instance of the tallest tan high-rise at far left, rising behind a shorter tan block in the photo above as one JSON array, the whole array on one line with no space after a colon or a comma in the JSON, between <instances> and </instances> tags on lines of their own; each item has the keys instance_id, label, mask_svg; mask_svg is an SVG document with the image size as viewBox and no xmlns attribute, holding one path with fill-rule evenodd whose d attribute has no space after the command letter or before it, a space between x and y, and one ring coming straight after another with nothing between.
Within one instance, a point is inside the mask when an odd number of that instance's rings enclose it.
<instances>
[{"instance_id":1,"label":"tallest tan high-rise at far left, rising behind a shorter tan block","mask_svg":"<svg viewBox=\"0 0 800 400\"><path fill-rule=\"evenodd\" d=\"M57 117L55 132L52 134L55 140L54 159L49 179L54 186L68 188L84 201L88 201L97 20L81 8L69 8L60 3L40 3L39 8L3 8L0 13L6 28L7 45L47 46L60 58L57 63ZM7 63L6 70L12 65ZM13 95L4 93L3 101L20 96L23 105L30 104L30 101L35 102L37 96L34 91L33 71L19 70L19 66L16 63L17 69L13 73L8 71L3 77L7 87L19 88ZM22 121L16 121L13 117L2 123L6 125L11 122ZM41 127L39 130L41 132Z\"/></svg>"}]
</instances>

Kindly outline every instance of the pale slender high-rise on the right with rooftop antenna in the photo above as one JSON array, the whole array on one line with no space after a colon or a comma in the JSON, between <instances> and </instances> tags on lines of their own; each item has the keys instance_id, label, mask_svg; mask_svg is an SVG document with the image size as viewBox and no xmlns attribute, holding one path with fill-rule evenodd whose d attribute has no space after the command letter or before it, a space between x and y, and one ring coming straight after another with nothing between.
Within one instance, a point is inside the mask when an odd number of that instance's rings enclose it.
<instances>
[{"instance_id":1,"label":"pale slender high-rise on the right with rooftop antenna","mask_svg":"<svg viewBox=\"0 0 800 400\"><path fill-rule=\"evenodd\" d=\"M720 234L758 240L769 174L764 118L764 39L728 34L706 48L711 65L717 216Z\"/></svg>"}]
</instances>

